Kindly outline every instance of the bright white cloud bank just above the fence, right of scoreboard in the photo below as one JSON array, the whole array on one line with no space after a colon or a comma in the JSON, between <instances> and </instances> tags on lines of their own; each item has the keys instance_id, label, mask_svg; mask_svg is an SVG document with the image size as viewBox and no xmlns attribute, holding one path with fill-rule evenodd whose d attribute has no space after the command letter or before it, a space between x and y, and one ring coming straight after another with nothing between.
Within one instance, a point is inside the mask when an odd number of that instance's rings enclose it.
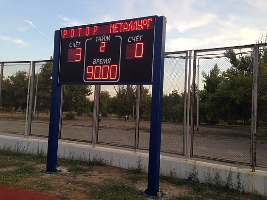
<instances>
[{"instance_id":1,"label":"bright white cloud bank just above the fence, right of scoreboard","mask_svg":"<svg viewBox=\"0 0 267 200\"><path fill-rule=\"evenodd\" d=\"M259 32L253 27L242 27L233 23L218 22L214 31L199 31L180 37L168 38L166 51L209 49L254 44Z\"/></svg>"}]
</instances>

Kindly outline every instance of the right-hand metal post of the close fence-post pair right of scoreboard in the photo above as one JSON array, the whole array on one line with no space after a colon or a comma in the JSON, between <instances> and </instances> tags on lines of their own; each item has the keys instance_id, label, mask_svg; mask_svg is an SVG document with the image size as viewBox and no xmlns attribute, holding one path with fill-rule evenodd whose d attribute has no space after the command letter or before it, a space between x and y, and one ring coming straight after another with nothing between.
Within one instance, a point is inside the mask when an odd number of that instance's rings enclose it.
<instances>
[{"instance_id":1,"label":"right-hand metal post of the close fence-post pair right of scoreboard","mask_svg":"<svg viewBox=\"0 0 267 200\"><path fill-rule=\"evenodd\" d=\"M191 102L191 145L190 156L193 156L194 145L194 107L195 107L195 83L196 83L196 64L197 64L197 51L194 51L193 61L193 78L192 78L192 102Z\"/></svg>"}]
</instances>

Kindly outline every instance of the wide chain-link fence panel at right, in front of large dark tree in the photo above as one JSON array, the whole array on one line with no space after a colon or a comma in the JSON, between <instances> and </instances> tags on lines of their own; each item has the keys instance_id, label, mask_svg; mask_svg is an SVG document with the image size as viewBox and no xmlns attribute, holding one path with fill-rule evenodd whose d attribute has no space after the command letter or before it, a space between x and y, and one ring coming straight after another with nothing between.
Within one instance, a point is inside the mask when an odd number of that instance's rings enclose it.
<instances>
[{"instance_id":1,"label":"wide chain-link fence panel at right, in front of large dark tree","mask_svg":"<svg viewBox=\"0 0 267 200\"><path fill-rule=\"evenodd\" d=\"M191 155L250 164L253 45L194 59Z\"/></svg>"}]
</instances>

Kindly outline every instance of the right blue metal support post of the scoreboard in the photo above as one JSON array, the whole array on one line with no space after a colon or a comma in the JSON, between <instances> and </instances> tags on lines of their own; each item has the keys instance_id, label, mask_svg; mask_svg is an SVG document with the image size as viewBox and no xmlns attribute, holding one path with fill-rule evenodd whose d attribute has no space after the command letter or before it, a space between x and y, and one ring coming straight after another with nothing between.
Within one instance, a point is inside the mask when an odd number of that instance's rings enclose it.
<instances>
[{"instance_id":1,"label":"right blue metal support post of the scoreboard","mask_svg":"<svg viewBox=\"0 0 267 200\"><path fill-rule=\"evenodd\" d=\"M155 44L153 61L151 123L150 123L150 149L148 167L148 188L144 192L147 196L157 196L159 191L160 173L160 144L161 144L161 119L162 95L164 74L164 52L166 35L166 17L156 18Z\"/></svg>"}]
</instances>

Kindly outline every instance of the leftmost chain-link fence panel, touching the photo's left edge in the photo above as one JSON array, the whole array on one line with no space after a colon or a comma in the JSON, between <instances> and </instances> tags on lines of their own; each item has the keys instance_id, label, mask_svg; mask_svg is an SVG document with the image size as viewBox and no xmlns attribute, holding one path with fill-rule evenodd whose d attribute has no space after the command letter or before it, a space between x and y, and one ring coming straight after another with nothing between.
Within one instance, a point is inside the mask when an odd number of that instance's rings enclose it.
<instances>
[{"instance_id":1,"label":"leftmost chain-link fence panel, touching the photo's left edge","mask_svg":"<svg viewBox=\"0 0 267 200\"><path fill-rule=\"evenodd\" d=\"M27 132L27 95L31 76L30 62L1 64L0 131Z\"/></svg>"}]
</instances>

